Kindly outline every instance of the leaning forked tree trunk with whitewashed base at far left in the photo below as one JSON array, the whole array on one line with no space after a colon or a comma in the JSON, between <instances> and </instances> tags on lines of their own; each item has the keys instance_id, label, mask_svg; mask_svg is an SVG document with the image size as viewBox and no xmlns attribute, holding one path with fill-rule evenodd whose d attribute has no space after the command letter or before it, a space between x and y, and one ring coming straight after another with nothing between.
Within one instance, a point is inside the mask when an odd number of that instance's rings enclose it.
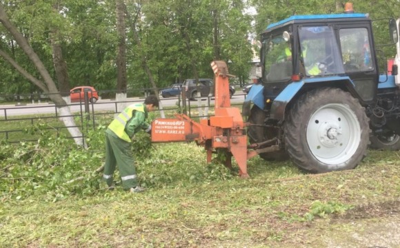
<instances>
[{"instance_id":1,"label":"leaning forked tree trunk with whitewashed base at far left","mask_svg":"<svg viewBox=\"0 0 400 248\"><path fill-rule=\"evenodd\" d=\"M6 14L6 11L3 8L3 4L0 2L0 22L3 24L4 28L10 32L12 37L14 37L15 41L17 44L21 47L23 52L28 56L30 61L35 65L37 68L37 71L41 75L41 78L43 81L40 81L39 79L36 79L32 74L21 68L21 66L14 61L6 52L3 52L0 50L0 56L2 56L6 61L8 61L14 68L20 72L23 76L25 76L28 80L30 80L34 85L37 85L38 87L43 90L46 94L50 94L49 97L53 101L53 103L57 106L59 111L61 112L61 121L63 121L64 125L68 127L68 131L70 132L71 136L74 137L75 143L77 145L84 145L83 141L83 136L81 134L81 131L79 130L78 127L74 123L74 118L72 118L70 114L70 110L66 104L66 101L64 101L61 97L61 94L59 93L59 90L57 89L57 86L55 85L54 81L52 80L52 77L50 76L48 70L46 67L43 65L42 61L39 59L39 56L34 52L33 48L29 45L28 41L26 40L25 37L15 28L14 25L10 22L8 19L8 16ZM62 117L62 116L70 116L70 117ZM73 126L73 127L71 127Z\"/></svg>"}]
</instances>

